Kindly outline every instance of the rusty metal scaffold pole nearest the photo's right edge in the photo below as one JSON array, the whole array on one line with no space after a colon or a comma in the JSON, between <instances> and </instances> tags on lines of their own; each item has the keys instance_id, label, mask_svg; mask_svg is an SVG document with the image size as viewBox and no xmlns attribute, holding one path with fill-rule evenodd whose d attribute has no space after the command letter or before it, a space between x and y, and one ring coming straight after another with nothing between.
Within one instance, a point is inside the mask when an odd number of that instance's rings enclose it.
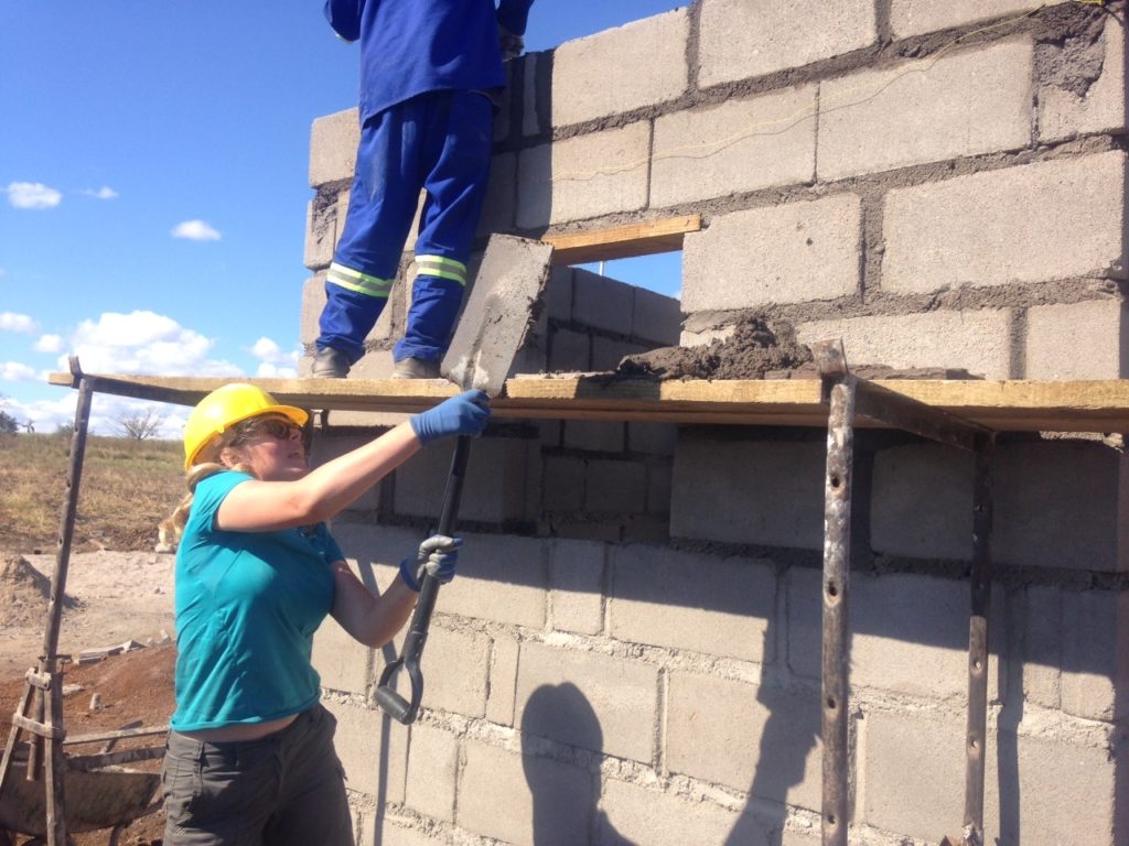
<instances>
[{"instance_id":1,"label":"rusty metal scaffold pole nearest the photo's right edge","mask_svg":"<svg viewBox=\"0 0 1129 846\"><path fill-rule=\"evenodd\" d=\"M991 608L992 457L990 434L977 438L972 518L972 615L969 620L969 721L965 733L964 843L984 841L988 740L988 615Z\"/></svg>"}]
</instances>

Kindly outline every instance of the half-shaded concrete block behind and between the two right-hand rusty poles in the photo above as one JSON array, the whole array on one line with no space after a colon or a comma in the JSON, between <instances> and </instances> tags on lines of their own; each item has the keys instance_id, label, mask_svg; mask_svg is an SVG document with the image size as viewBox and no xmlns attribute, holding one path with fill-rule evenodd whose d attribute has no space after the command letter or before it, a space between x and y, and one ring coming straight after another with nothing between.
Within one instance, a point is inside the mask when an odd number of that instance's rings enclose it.
<instances>
[{"instance_id":1,"label":"half-shaded concrete block behind and between the two right-hand rusty poles","mask_svg":"<svg viewBox=\"0 0 1129 846\"><path fill-rule=\"evenodd\" d=\"M855 689L877 688L925 698L968 694L969 603L965 580L924 575L851 574L851 668ZM821 675L822 580L819 572L788 574L788 666ZM992 592L988 696L999 696L999 652L1006 650L1005 597Z\"/></svg>"}]
</instances>

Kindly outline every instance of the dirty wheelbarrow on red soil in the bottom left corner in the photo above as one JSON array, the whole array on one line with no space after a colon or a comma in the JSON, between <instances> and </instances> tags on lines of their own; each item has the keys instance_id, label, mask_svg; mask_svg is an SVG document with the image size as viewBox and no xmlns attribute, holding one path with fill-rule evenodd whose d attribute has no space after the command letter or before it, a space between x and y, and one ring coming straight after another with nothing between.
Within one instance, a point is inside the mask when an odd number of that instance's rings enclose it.
<instances>
[{"instance_id":1,"label":"dirty wheelbarrow on red soil in the bottom left corner","mask_svg":"<svg viewBox=\"0 0 1129 846\"><path fill-rule=\"evenodd\" d=\"M46 843L46 794L43 783L27 781L26 774L27 756L17 752L0 786L0 846L11 846L10 834L33 837L26 846ZM63 775L67 831L111 829L108 846L117 846L126 826L160 808L159 785L157 773L116 767L68 769Z\"/></svg>"}]
</instances>

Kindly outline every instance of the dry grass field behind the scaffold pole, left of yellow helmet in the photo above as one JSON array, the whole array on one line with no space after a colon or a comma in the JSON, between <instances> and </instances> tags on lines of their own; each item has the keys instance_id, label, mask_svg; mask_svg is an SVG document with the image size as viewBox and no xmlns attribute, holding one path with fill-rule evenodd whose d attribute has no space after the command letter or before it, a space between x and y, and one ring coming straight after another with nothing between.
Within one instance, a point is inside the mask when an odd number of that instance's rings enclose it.
<instances>
[{"instance_id":1,"label":"dry grass field behind the scaffold pole, left of yellow helmet","mask_svg":"<svg viewBox=\"0 0 1129 846\"><path fill-rule=\"evenodd\" d=\"M0 435L0 549L52 553L70 469L70 437ZM152 549L184 494L180 441L87 438L72 549Z\"/></svg>"}]
</instances>

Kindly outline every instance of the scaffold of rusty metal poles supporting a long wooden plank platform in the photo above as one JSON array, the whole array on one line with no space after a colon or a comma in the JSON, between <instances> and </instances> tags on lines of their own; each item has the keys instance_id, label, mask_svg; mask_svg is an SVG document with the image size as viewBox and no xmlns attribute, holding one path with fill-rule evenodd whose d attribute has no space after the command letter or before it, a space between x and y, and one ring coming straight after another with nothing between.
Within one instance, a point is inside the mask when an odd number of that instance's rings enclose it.
<instances>
[{"instance_id":1,"label":"scaffold of rusty metal poles supporting a long wooden plank platform","mask_svg":"<svg viewBox=\"0 0 1129 846\"><path fill-rule=\"evenodd\" d=\"M974 457L973 482L973 558L970 584L968 720L965 731L965 784L963 846L983 846L984 748L988 716L988 624L992 582L992 461L997 431L1024 425L1017 431L1058 428L1062 431L1129 431L1129 386L1123 380L1078 384L1084 397L1077 406L1064 407L1061 397L1047 386L1058 384L1024 382L1021 397L1013 405L996 412L988 404L972 403L968 416L943 407L944 391L926 389L921 384L902 382L894 390L876 381L854 376L847 365L841 341L823 341L812 345L819 367L817 400L804 386L758 386L752 396L739 390L736 395L700 390L693 385L656 386L648 382L636 389L606 378L586 381L519 378L506 385L502 397L495 400L496 414L516 418L553 420L648 420L676 423L721 423L761 425L822 425L828 429L826 468L824 477L824 545L822 578L822 734L823 799L822 843L846 846L850 822L849 768L849 651L850 651L850 561L851 561L851 481L856 429L883 426L944 443ZM62 722L59 623L65 589L81 476L82 456L89 424L90 398L96 391L152 402L194 405L204 395L220 387L225 379L163 378L142 376L86 374L72 358L70 373L52 373L53 385L76 388L79 399L75 415L71 447L71 469L63 505L59 553L52 578L51 606L44 637L44 656L40 671L28 672L28 687L12 732L5 749L0 784L8 772L12 748L20 730L33 733L33 746L46 744L45 764L37 764L45 776L49 814L53 814L47 832L47 846L65 843L64 809L61 775L68 766L62 752L65 730ZM413 413L452 396L455 388L439 380L329 380L329 379L253 379L279 402L320 409L351 409ZM718 384L718 385L725 385ZM745 382L743 386L751 384ZM1009 382L991 384L999 394L1007 394ZM664 387L665 386L665 387ZM996 388L986 391L994 395ZM912 396L919 391L925 398ZM981 391L981 394L986 393ZM928 402L933 398L935 402ZM980 398L983 403L983 397ZM1035 411L1032 411L1035 409ZM1042 415L1042 416L1040 416ZM971 417L987 417L987 422ZM1000 421L997 425L996 422ZM1051 425L1048 425L1048 421ZM38 690L40 695L33 695ZM29 703L37 700L37 717L27 716ZM47 703L44 707L44 703ZM167 731L139 729L113 732L134 735ZM78 740L78 739L75 739ZM71 741L73 742L73 741ZM95 763L137 760L145 750L126 750L110 756L95 756ZM150 756L156 757L156 756ZM77 766L91 766L78 764ZM36 775L28 767L28 776ZM946 843L952 840L946 839Z\"/></svg>"}]
</instances>

